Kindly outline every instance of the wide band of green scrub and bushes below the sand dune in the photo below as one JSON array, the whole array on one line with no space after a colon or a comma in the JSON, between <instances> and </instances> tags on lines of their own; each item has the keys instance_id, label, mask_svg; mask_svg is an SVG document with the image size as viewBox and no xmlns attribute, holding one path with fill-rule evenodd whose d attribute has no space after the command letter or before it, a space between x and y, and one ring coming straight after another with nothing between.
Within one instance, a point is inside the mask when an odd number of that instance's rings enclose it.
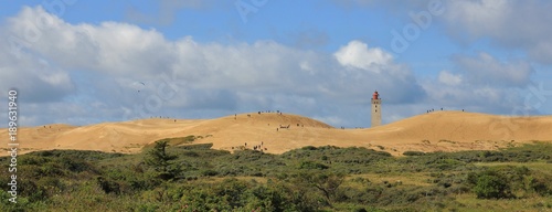
<instances>
[{"instance_id":1,"label":"wide band of green scrub and bushes below the sand dune","mask_svg":"<svg viewBox=\"0 0 552 212\"><path fill-rule=\"evenodd\" d=\"M552 144L392 157L333 146L230 153L185 138L137 155L19 156L18 204L3 189L0 211L552 210ZM8 160L0 158L3 176Z\"/></svg>"}]
</instances>

